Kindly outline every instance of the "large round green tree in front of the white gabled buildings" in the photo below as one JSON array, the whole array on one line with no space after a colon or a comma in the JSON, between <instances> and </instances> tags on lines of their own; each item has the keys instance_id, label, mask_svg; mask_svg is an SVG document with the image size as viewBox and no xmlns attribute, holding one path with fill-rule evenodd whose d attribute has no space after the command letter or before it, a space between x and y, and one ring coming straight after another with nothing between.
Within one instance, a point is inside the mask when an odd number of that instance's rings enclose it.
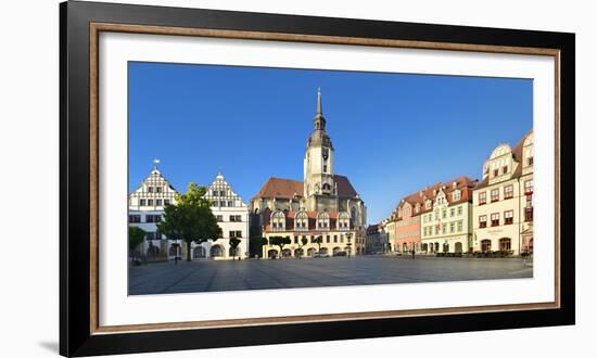
<instances>
[{"instance_id":1,"label":"large round green tree in front of the white gabled buildings","mask_svg":"<svg viewBox=\"0 0 597 358\"><path fill-rule=\"evenodd\" d=\"M164 218L157 223L157 232L170 240L187 244L187 260L191 260L191 244L201 244L221 236L221 229L212 213L211 202L205 200L205 187L191 182L187 192L176 196L176 205L164 208Z\"/></svg>"}]
</instances>

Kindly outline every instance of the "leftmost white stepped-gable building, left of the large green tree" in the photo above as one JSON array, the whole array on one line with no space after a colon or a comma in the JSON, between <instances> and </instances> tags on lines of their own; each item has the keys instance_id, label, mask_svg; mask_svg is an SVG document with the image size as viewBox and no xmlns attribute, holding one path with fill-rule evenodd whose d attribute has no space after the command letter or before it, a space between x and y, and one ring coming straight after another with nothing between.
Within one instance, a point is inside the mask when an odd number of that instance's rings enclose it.
<instances>
[{"instance_id":1,"label":"leftmost white stepped-gable building, left of the large green tree","mask_svg":"<svg viewBox=\"0 0 597 358\"><path fill-rule=\"evenodd\" d=\"M147 240L138 247L141 257L147 259L165 259L174 257L175 247L170 248L166 236L156 230L156 223L162 221L164 207L176 204L176 190L157 170L157 159L154 161L153 170L140 187L128 195L128 222L143 229Z\"/></svg>"}]
</instances>

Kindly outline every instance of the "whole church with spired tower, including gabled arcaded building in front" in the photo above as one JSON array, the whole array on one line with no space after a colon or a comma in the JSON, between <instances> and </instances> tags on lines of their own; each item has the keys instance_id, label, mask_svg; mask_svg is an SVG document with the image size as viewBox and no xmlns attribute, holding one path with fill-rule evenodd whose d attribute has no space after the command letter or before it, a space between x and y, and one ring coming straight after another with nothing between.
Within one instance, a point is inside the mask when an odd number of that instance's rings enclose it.
<instances>
[{"instance_id":1,"label":"whole church with spired tower, including gabled arcaded building in front","mask_svg":"<svg viewBox=\"0 0 597 358\"><path fill-rule=\"evenodd\" d=\"M335 174L335 153L326 124L318 92L314 130L303 158L303 181L269 178L251 200L252 235L290 238L292 244L284 247L287 256L295 256L297 250L314 254L318 245L312 241L318 236L323 241L321 250L330 255L338 250L365 252L367 208L348 178ZM303 236L308 240L305 247ZM263 255L272 256L278 251L266 245Z\"/></svg>"}]
</instances>

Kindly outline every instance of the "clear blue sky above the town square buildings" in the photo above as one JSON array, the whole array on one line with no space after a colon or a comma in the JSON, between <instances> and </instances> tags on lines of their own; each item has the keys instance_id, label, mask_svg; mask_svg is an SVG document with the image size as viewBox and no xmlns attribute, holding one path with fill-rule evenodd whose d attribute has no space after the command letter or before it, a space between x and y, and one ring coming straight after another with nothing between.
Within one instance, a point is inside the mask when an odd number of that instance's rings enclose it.
<instances>
[{"instance_id":1,"label":"clear blue sky above the town square buildings","mask_svg":"<svg viewBox=\"0 0 597 358\"><path fill-rule=\"evenodd\" d=\"M129 190L154 158L182 192L221 169L246 203L269 177L302 180L318 87L335 172L369 222L424 186L480 178L533 124L530 79L130 62Z\"/></svg>"}]
</instances>

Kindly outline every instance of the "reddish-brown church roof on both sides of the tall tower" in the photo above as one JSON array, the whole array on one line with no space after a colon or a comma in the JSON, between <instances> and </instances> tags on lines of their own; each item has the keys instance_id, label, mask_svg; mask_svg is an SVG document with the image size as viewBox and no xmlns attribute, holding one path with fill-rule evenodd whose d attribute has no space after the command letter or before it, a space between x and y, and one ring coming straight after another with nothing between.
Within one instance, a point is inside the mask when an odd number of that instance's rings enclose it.
<instances>
[{"instance_id":1,"label":"reddish-brown church roof on both sides of the tall tower","mask_svg":"<svg viewBox=\"0 0 597 358\"><path fill-rule=\"evenodd\" d=\"M357 195L347 177L334 175L333 179L338 186L339 197L354 197ZM292 199L295 195L303 196L302 181L270 177L254 197Z\"/></svg>"}]
</instances>

